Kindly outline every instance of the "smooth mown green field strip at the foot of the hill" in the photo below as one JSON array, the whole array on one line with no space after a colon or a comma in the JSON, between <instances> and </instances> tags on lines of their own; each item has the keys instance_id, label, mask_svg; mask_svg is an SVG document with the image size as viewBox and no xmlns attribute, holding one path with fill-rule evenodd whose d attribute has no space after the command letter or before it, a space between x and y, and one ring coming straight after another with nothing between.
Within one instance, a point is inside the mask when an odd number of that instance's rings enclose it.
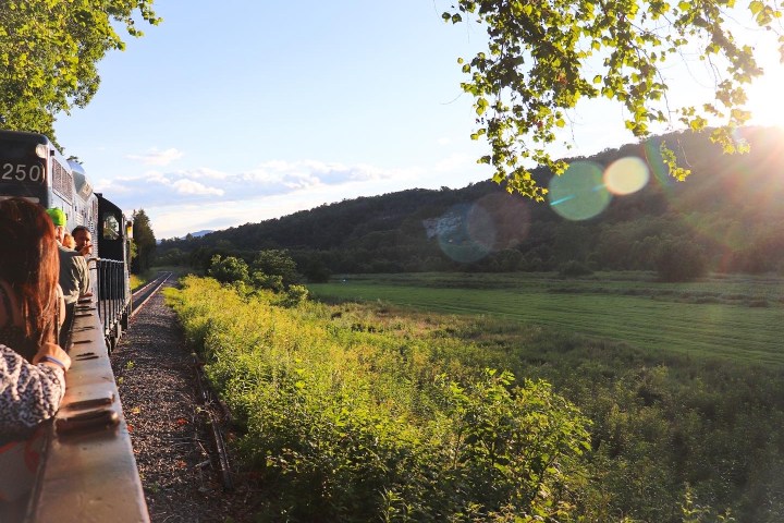
<instances>
[{"instance_id":1,"label":"smooth mown green field strip at the foot of the hill","mask_svg":"<svg viewBox=\"0 0 784 523\"><path fill-rule=\"evenodd\" d=\"M322 300L376 301L434 313L491 315L651 351L784 364L784 279L656 282L645 273L346 276L308 285Z\"/></svg>"}]
</instances>

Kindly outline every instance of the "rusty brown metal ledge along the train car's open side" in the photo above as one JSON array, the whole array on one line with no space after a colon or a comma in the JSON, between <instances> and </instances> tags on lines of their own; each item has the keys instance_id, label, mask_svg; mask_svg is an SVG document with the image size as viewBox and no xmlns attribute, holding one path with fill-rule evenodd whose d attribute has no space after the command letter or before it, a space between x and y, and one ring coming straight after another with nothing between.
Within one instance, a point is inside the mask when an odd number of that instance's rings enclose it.
<instances>
[{"instance_id":1,"label":"rusty brown metal ledge along the train car's open side","mask_svg":"<svg viewBox=\"0 0 784 523\"><path fill-rule=\"evenodd\" d=\"M102 329L97 296L79 300L65 397L47 428L25 523L149 522Z\"/></svg>"}]
</instances>

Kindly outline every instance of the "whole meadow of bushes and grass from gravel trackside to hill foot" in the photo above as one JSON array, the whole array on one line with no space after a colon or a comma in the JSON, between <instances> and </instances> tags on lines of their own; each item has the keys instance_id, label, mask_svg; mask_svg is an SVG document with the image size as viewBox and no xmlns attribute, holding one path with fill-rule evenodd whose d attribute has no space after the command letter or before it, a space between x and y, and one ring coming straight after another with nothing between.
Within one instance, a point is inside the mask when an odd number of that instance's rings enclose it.
<instances>
[{"instance_id":1,"label":"whole meadow of bushes and grass from gravel trackside to hill foot","mask_svg":"<svg viewBox=\"0 0 784 523\"><path fill-rule=\"evenodd\" d=\"M784 521L777 279L309 288L168 291L257 521Z\"/></svg>"}]
</instances>

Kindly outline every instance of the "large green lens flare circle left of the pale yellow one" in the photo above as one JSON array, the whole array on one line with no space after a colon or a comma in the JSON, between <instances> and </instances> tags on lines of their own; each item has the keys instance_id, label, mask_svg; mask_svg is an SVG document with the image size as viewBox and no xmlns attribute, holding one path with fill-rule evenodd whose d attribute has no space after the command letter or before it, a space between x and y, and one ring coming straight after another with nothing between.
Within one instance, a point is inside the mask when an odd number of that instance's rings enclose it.
<instances>
[{"instance_id":1,"label":"large green lens flare circle left of the pale yellow one","mask_svg":"<svg viewBox=\"0 0 784 523\"><path fill-rule=\"evenodd\" d=\"M567 220L593 218L607 209L612 194L604 186L602 168L591 161L575 161L550 181L550 207Z\"/></svg>"}]
</instances>

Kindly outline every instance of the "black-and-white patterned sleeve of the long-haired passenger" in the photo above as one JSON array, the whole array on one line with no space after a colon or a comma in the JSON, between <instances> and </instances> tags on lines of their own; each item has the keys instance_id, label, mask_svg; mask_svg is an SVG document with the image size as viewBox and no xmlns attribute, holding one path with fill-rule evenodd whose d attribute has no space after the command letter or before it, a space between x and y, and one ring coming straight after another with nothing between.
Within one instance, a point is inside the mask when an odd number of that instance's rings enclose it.
<instances>
[{"instance_id":1,"label":"black-and-white patterned sleeve of the long-haired passenger","mask_svg":"<svg viewBox=\"0 0 784 523\"><path fill-rule=\"evenodd\" d=\"M65 373L32 365L0 344L0 433L17 433L52 417L65 393Z\"/></svg>"}]
</instances>

